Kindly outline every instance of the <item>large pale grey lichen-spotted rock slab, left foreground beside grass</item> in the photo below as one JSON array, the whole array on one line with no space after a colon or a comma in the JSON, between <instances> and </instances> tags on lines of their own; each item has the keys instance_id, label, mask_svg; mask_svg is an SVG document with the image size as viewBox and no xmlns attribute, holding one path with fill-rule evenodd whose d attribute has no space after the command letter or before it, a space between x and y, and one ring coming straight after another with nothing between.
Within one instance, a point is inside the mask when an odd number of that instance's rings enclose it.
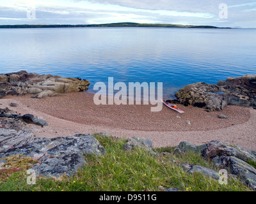
<instances>
[{"instance_id":1,"label":"large pale grey lichen-spotted rock slab, left foreground beside grass","mask_svg":"<svg viewBox=\"0 0 256 204\"><path fill-rule=\"evenodd\" d=\"M29 131L15 132L10 129L8 131L11 134L6 134L7 138L4 135L0 138L2 162L4 163L5 157L13 155L31 157L37 161L31 168L35 170L36 175L60 177L65 174L71 176L86 164L84 154L102 156L106 153L104 147L91 135L49 139L38 138ZM4 164L1 166L3 168Z\"/></svg>"}]
</instances>

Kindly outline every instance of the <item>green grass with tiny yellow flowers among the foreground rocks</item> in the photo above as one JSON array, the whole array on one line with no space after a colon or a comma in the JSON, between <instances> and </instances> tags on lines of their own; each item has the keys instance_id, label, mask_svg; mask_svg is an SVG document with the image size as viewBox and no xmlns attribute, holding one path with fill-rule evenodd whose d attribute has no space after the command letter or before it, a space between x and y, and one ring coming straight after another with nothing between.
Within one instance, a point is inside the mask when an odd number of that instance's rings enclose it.
<instances>
[{"instance_id":1,"label":"green grass with tiny yellow flowers among the foreground rocks","mask_svg":"<svg viewBox=\"0 0 256 204\"><path fill-rule=\"evenodd\" d=\"M106 155L84 156L88 164L73 177L36 177L36 184L28 185L26 171L0 171L0 191L160 191L160 186L180 191L251 191L232 177L225 186L200 173L186 173L178 164L198 164L218 171L213 163L193 152L185 156L153 156L140 148L124 151L126 141L122 139L96 138L106 149ZM173 147L156 149L159 153L163 151L172 153Z\"/></svg>"}]
</instances>

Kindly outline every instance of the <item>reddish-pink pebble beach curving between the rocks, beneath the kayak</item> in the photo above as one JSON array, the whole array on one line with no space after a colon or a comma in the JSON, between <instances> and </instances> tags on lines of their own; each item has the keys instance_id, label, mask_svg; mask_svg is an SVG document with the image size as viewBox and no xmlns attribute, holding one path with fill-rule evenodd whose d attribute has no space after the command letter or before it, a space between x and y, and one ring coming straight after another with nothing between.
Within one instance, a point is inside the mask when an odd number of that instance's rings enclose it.
<instances>
[{"instance_id":1,"label":"reddish-pink pebble beach curving between the rocks, beneath the kayak","mask_svg":"<svg viewBox=\"0 0 256 204\"><path fill-rule=\"evenodd\" d=\"M10 107L17 103L17 107ZM163 106L161 112L150 112L150 105L95 105L93 94L72 92L61 96L33 99L31 95L0 99L0 108L43 117L49 126L29 124L36 136L71 136L78 133L111 133L120 138L143 136L154 147L175 146L182 141L201 145L211 140L234 143L248 150L256 149L256 110L227 106L221 112L182 106L178 113ZM219 119L223 113L229 119ZM177 118L180 116L180 119ZM191 121L191 125L186 124Z\"/></svg>"}]
</instances>

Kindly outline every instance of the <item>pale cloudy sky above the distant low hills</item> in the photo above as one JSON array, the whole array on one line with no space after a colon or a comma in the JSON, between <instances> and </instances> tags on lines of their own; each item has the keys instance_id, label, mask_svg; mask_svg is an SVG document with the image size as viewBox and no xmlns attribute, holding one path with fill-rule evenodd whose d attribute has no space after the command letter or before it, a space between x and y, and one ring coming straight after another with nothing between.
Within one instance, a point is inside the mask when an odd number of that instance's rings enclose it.
<instances>
[{"instance_id":1,"label":"pale cloudy sky above the distant low hills","mask_svg":"<svg viewBox=\"0 0 256 204\"><path fill-rule=\"evenodd\" d=\"M0 0L0 25L149 24L256 27L255 0Z\"/></svg>"}]
</instances>

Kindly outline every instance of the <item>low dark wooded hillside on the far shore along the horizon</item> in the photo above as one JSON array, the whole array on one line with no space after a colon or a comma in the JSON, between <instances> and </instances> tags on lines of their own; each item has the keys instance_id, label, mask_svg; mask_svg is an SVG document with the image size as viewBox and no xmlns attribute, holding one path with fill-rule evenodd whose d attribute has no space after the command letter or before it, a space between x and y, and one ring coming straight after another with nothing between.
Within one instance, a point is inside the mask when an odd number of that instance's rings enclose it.
<instances>
[{"instance_id":1,"label":"low dark wooded hillside on the far shore along the horizon","mask_svg":"<svg viewBox=\"0 0 256 204\"><path fill-rule=\"evenodd\" d=\"M231 27L216 27L212 25L179 25L179 24L138 24L132 22L122 22L113 24L90 24L90 25L0 25L0 28L52 28L52 27L183 27L183 28L211 28L211 29L231 29Z\"/></svg>"}]
</instances>

